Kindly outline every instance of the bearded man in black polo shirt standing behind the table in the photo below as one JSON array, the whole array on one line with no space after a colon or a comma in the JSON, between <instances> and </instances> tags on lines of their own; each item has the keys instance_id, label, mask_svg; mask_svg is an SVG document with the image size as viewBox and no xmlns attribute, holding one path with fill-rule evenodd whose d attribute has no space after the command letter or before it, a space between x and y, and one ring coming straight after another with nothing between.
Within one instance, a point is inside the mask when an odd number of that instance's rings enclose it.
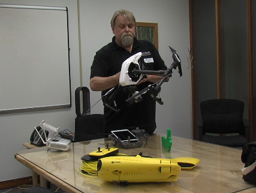
<instances>
[{"instance_id":1,"label":"bearded man in black polo shirt standing behind the table","mask_svg":"<svg viewBox=\"0 0 256 193\"><path fill-rule=\"evenodd\" d=\"M111 43L98 50L94 56L90 77L92 91L102 91L104 95L118 85L122 63L138 52L142 53L140 59L144 63L144 70L167 70L155 46L147 40L135 38L135 17L131 11L116 11L110 24L115 36ZM137 83L137 91L161 78L162 76L147 75ZM140 102L125 102L128 97L129 93L125 90L116 95L115 102L119 112L104 105L105 132L138 127L152 135L156 129L155 100L145 94Z\"/></svg>"}]
</instances>

